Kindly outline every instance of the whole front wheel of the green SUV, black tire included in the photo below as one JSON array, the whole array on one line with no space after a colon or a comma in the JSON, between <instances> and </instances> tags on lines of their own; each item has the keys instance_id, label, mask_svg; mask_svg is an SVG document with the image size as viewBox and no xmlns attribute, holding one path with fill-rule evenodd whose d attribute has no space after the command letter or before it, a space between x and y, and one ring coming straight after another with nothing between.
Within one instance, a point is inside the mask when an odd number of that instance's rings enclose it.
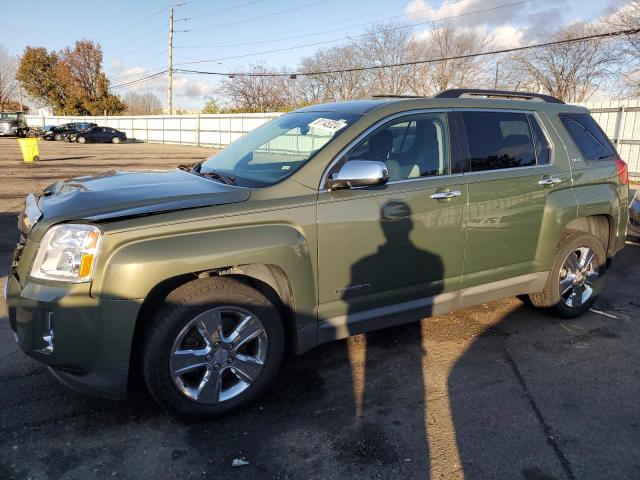
<instances>
[{"instance_id":1,"label":"whole front wheel of the green SUV, black tire included","mask_svg":"<svg viewBox=\"0 0 640 480\"><path fill-rule=\"evenodd\" d=\"M233 328L243 321L246 332L261 333L244 345L238 340L236 349L230 343ZM220 337L215 325L222 325ZM280 368L285 349L277 308L257 290L225 277L194 280L171 292L151 318L143 342L143 377L153 398L170 412L197 419L227 414L257 399ZM255 363L258 357L261 364Z\"/></svg>"}]
</instances>

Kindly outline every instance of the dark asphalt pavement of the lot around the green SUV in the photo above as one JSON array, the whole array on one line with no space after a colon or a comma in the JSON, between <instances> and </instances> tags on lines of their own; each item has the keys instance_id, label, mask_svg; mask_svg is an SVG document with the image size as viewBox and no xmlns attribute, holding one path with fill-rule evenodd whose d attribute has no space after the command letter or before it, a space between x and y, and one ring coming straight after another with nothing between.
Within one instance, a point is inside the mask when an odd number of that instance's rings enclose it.
<instances>
[{"instance_id":1,"label":"dark asphalt pavement of the lot around the green SUV","mask_svg":"<svg viewBox=\"0 0 640 480\"><path fill-rule=\"evenodd\" d=\"M29 179L9 146L0 182L22 183L0 190L0 283L27 187L210 152L47 145L60 159ZM93 158L68 159L80 156ZM510 298L323 345L287 358L256 404L201 423L62 386L17 348L0 301L0 479L640 478L639 266L628 242L579 319Z\"/></svg>"}]
</instances>

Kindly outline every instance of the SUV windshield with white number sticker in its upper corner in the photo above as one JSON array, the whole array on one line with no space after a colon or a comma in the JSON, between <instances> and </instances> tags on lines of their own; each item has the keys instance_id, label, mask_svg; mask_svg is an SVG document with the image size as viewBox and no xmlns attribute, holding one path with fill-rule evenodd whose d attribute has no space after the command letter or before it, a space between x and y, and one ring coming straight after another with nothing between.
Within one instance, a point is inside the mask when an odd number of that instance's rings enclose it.
<instances>
[{"instance_id":1,"label":"SUV windshield with white number sticker in its upper corner","mask_svg":"<svg viewBox=\"0 0 640 480\"><path fill-rule=\"evenodd\" d=\"M243 186L271 185L292 175L358 118L339 112L282 115L209 157L200 172L221 172Z\"/></svg>"}]
</instances>

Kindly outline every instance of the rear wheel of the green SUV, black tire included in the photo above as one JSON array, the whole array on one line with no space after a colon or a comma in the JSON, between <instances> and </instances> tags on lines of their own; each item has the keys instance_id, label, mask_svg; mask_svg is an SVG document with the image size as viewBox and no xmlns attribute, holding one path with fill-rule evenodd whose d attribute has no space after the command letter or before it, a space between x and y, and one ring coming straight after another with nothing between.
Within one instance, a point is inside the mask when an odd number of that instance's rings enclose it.
<instances>
[{"instance_id":1,"label":"rear wheel of the green SUV, black tire included","mask_svg":"<svg viewBox=\"0 0 640 480\"><path fill-rule=\"evenodd\" d=\"M594 254L592 261L580 269L581 259L588 261L591 253ZM572 264L576 265L575 269L570 266ZM556 317L579 317L596 301L602 290L605 270L606 252L600 240L590 233L570 230L558 243L544 289L530 294L529 299L533 306Z\"/></svg>"}]
</instances>

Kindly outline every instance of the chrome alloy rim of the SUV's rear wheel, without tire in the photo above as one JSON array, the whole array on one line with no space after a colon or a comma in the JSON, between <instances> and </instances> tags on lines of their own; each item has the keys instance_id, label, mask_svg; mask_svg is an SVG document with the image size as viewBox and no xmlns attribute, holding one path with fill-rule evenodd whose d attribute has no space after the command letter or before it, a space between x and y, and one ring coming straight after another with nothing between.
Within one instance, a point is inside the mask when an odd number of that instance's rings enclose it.
<instances>
[{"instance_id":1,"label":"chrome alloy rim of the SUV's rear wheel, without tire","mask_svg":"<svg viewBox=\"0 0 640 480\"><path fill-rule=\"evenodd\" d=\"M560 269L560 298L567 307L580 307L593 296L599 277L596 252L578 247L567 255Z\"/></svg>"}]
</instances>

